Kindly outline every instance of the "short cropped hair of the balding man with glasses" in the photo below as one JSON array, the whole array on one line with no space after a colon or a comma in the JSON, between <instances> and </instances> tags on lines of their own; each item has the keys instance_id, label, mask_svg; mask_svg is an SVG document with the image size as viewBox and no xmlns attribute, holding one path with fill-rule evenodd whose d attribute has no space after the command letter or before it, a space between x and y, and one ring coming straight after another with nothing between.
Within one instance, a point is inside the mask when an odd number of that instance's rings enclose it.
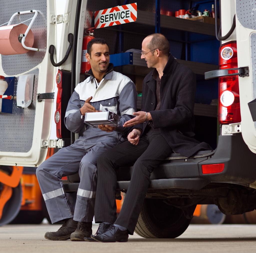
<instances>
[{"instance_id":1,"label":"short cropped hair of the balding man with glasses","mask_svg":"<svg viewBox=\"0 0 256 253\"><path fill-rule=\"evenodd\" d=\"M161 50L164 55L169 56L170 53L170 44L167 38L162 33L153 33L148 35L147 37L152 36L150 42L148 42L147 47L150 50L155 48ZM154 55L154 51L151 52Z\"/></svg>"}]
</instances>

